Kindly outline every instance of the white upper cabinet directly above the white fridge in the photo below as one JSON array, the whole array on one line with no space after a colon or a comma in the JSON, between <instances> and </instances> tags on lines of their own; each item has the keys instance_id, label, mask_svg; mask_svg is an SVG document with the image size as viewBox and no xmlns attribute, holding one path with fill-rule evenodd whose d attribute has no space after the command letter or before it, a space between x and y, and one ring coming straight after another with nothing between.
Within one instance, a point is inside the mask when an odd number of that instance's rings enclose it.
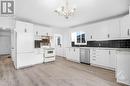
<instances>
[{"instance_id":1,"label":"white upper cabinet directly above the white fridge","mask_svg":"<svg viewBox=\"0 0 130 86\"><path fill-rule=\"evenodd\" d=\"M33 33L33 24L22 21L16 21L15 30L17 33Z\"/></svg>"}]
</instances>

